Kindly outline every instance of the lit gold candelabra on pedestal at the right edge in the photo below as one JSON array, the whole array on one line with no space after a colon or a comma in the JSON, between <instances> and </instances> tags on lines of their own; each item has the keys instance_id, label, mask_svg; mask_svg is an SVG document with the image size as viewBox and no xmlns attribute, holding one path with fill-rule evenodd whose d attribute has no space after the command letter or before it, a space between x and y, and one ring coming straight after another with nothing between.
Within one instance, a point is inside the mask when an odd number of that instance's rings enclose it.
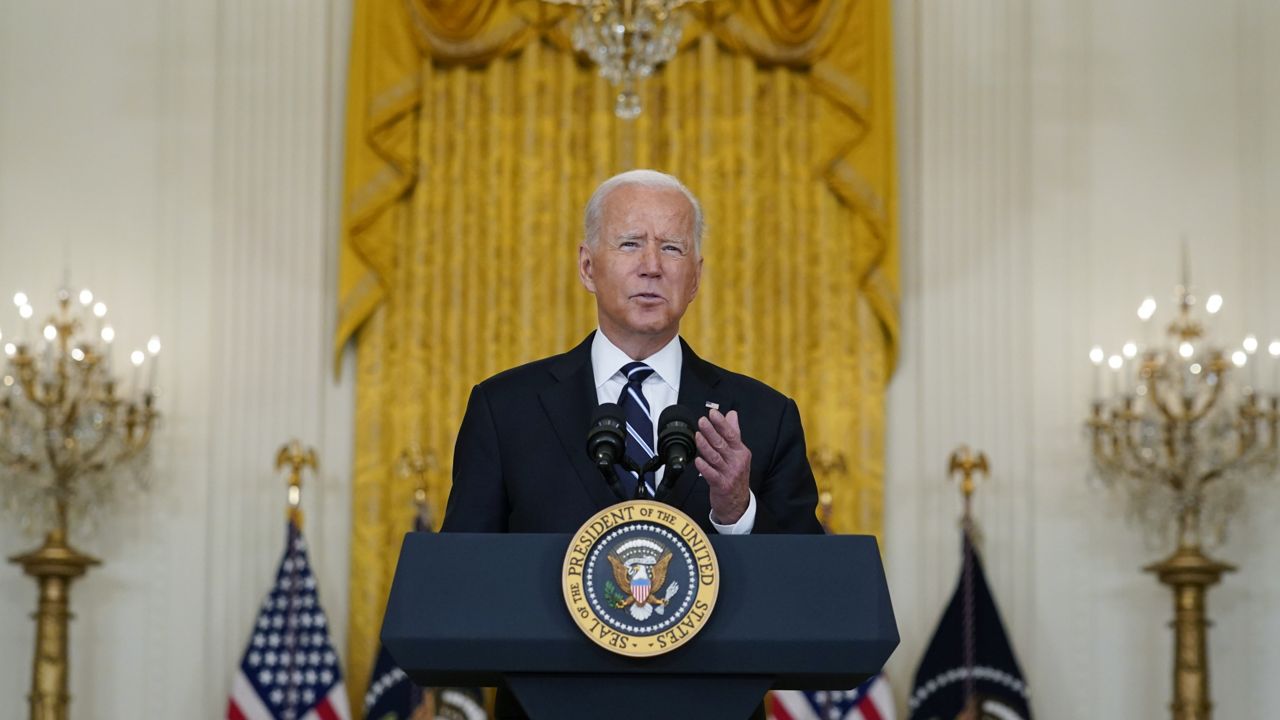
<instances>
[{"instance_id":1,"label":"lit gold candelabra on pedestal at the right edge","mask_svg":"<svg viewBox=\"0 0 1280 720\"><path fill-rule=\"evenodd\" d=\"M1212 716L1204 597L1235 568L1210 559L1204 547L1224 538L1244 488L1280 468L1280 382L1263 389L1256 337L1233 351L1210 343L1196 305L1184 255L1167 342L1128 342L1110 357L1100 347L1091 352L1097 369L1087 423L1094 474L1126 496L1130 516L1157 536L1172 536L1174 552L1146 571L1174 593L1174 720ZM1221 307L1219 295L1204 302L1210 316ZM1138 309L1147 328L1155 311L1149 297ZM1280 341L1267 351L1280 379Z\"/></svg>"}]
</instances>

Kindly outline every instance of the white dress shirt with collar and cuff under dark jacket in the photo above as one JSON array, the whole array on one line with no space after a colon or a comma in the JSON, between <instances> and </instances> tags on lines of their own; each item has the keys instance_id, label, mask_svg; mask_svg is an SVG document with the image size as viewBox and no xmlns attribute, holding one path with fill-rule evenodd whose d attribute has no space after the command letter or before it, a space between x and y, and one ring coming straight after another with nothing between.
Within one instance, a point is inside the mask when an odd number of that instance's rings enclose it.
<instances>
[{"instance_id":1,"label":"white dress shirt with collar and cuff under dark jacket","mask_svg":"<svg viewBox=\"0 0 1280 720\"><path fill-rule=\"evenodd\" d=\"M595 337L591 340L591 372L595 374L595 400L598 402L603 405L618 401L618 397L622 396L622 388L627 386L622 366L632 361L626 352L618 350L618 346L604 336L604 331L595 331ZM641 383L640 392L649 402L649 414L657 420L662 416L662 411L675 405L680 397L680 369L685 365L685 354L680 348L680 336L671 338L671 342L662 350L640 361L653 368L653 374ZM701 411L700 407L690 410ZM658 423L655 421L653 425L654 437L649 438L649 442L654 443L652 447L658 447ZM658 468L654 487L662 484L664 470L666 468ZM751 528L755 527L755 493L750 489L746 492L746 512L742 512L737 523L721 525L712 514L710 521L716 527L716 532L722 536L745 536L751 532Z\"/></svg>"}]
</instances>

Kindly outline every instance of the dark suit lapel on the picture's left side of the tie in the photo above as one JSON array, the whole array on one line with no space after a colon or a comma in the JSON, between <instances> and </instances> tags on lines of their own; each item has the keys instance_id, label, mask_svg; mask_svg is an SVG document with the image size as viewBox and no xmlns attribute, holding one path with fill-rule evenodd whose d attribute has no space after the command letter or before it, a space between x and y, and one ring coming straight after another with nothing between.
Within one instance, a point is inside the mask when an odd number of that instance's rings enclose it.
<instances>
[{"instance_id":1,"label":"dark suit lapel on the picture's left side of the tie","mask_svg":"<svg viewBox=\"0 0 1280 720\"><path fill-rule=\"evenodd\" d=\"M590 429L591 409L598 405L595 378L591 373L591 338L586 336L577 347L552 364L556 382L538 395L547 413L547 420L556 429L561 447L582 482L582 488L598 507L608 507L618 501L586 456L586 430Z\"/></svg>"}]
</instances>

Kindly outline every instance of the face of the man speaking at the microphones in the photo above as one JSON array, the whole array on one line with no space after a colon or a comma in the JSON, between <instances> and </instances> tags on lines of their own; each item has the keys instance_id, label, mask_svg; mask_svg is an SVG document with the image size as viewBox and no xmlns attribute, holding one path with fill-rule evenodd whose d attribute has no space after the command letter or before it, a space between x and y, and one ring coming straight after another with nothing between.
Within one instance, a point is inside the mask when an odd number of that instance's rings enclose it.
<instances>
[{"instance_id":1,"label":"face of the man speaking at the microphones","mask_svg":"<svg viewBox=\"0 0 1280 720\"><path fill-rule=\"evenodd\" d=\"M680 191L618 187L604 200L600 236L577 255L611 341L657 351L676 336L703 274L694 209Z\"/></svg>"}]
</instances>

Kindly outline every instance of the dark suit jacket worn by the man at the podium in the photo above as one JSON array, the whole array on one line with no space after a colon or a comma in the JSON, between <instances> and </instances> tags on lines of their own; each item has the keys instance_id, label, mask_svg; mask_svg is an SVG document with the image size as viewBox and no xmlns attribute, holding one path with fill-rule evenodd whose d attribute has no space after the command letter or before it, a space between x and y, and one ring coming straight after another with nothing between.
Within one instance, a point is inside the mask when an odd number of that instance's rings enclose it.
<instances>
[{"instance_id":1,"label":"dark suit jacket worn by the man at the podium","mask_svg":"<svg viewBox=\"0 0 1280 720\"><path fill-rule=\"evenodd\" d=\"M453 489L443 532L572 533L618 502L586 455L598 405L591 338L577 347L494 375L471 391L453 451ZM703 360L681 341L678 402L698 414L707 402L737 410L751 450L755 533L820 533L818 491L805 455L796 404L773 388ZM707 480L692 469L666 501L704 530Z\"/></svg>"}]
</instances>

